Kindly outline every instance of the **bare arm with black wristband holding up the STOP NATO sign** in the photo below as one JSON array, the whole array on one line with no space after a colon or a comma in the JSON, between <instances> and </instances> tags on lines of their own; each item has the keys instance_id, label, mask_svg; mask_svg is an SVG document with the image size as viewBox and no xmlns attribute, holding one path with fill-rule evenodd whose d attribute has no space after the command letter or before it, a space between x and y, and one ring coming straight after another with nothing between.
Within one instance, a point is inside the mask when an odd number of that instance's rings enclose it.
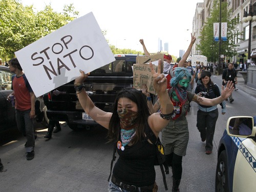
<instances>
[{"instance_id":1,"label":"bare arm with black wristband holding up the STOP NATO sign","mask_svg":"<svg viewBox=\"0 0 256 192\"><path fill-rule=\"evenodd\" d=\"M82 86L83 81L86 80L86 78L88 77L88 74L84 74L84 71L80 70L80 73L81 76L79 76L75 80L75 86ZM105 112L98 107L95 107L84 88L76 93L83 110L86 111L87 114L89 114L98 124L106 129L109 129L109 123L112 113Z\"/></svg>"}]
</instances>

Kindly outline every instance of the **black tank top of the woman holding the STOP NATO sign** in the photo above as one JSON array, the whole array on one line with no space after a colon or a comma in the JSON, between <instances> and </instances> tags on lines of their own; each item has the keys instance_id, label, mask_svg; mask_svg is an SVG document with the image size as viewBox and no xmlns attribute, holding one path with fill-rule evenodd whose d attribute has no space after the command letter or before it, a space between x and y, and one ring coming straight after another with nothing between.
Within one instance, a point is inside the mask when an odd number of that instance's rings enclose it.
<instances>
[{"instance_id":1,"label":"black tank top of the woman holding the STOP NATO sign","mask_svg":"<svg viewBox=\"0 0 256 192\"><path fill-rule=\"evenodd\" d=\"M137 187L154 184L156 147L153 144L142 138L132 146L126 145L124 151L117 148L117 152L119 158L113 169L116 178Z\"/></svg>"}]
</instances>

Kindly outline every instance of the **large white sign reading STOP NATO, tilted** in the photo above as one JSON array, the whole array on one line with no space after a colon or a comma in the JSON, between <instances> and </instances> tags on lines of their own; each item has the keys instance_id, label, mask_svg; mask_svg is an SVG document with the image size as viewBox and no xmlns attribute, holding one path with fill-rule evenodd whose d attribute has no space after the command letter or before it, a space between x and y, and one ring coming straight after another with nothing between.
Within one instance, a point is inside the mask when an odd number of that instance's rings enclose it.
<instances>
[{"instance_id":1,"label":"large white sign reading STOP NATO, tilted","mask_svg":"<svg viewBox=\"0 0 256 192\"><path fill-rule=\"evenodd\" d=\"M39 97L115 60L92 12L15 52Z\"/></svg>"}]
</instances>

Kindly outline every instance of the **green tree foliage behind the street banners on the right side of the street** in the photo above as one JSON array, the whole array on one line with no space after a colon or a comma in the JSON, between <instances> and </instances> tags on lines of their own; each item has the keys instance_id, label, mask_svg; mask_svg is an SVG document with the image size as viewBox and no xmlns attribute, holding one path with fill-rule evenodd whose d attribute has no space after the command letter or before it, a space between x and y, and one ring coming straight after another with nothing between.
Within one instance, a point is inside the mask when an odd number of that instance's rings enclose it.
<instances>
[{"instance_id":1,"label":"green tree foliage behind the street banners on the right side of the street","mask_svg":"<svg viewBox=\"0 0 256 192\"><path fill-rule=\"evenodd\" d=\"M219 42L214 41L214 23L220 22L220 1L215 0L212 9L211 16L207 18L201 29L200 44L197 45L197 49L201 51L201 54L207 58L212 58L216 61L219 58ZM231 10L227 10L227 2L221 4L221 22L227 22L227 41L221 42L221 55L232 57L236 55L236 47L238 45L234 42L234 35L241 34L236 30L238 25L238 19L231 19Z\"/></svg>"}]
</instances>

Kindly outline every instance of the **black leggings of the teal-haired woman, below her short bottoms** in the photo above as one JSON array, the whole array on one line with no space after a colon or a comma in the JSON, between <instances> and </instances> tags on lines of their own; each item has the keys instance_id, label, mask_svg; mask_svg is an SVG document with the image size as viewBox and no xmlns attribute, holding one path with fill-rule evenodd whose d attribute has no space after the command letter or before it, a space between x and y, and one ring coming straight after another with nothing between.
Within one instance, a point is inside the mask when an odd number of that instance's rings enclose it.
<instances>
[{"instance_id":1,"label":"black leggings of the teal-haired woman, below her short bottoms","mask_svg":"<svg viewBox=\"0 0 256 192\"><path fill-rule=\"evenodd\" d=\"M176 180L181 179L182 175L182 156L176 155L174 152L166 155L168 166L173 169L173 177Z\"/></svg>"}]
</instances>

